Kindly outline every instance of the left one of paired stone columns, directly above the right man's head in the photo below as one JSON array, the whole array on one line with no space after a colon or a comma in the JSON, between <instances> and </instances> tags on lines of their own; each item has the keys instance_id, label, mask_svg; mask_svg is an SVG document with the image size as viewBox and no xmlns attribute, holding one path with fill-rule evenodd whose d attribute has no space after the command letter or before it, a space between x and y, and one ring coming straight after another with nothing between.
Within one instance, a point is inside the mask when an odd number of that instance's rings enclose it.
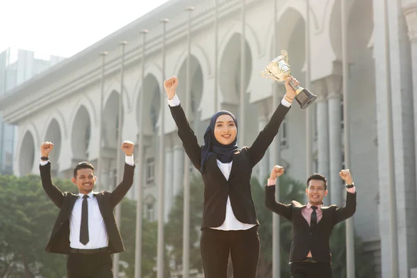
<instances>
[{"instance_id":1,"label":"left one of paired stone columns, directly above the right man's head","mask_svg":"<svg viewBox=\"0 0 417 278\"><path fill-rule=\"evenodd\" d=\"M317 120L317 154L318 172L329 179L329 107L327 104L326 81L320 79L313 82L316 95L316 120ZM332 202L330 196L327 202Z\"/></svg>"}]
</instances>

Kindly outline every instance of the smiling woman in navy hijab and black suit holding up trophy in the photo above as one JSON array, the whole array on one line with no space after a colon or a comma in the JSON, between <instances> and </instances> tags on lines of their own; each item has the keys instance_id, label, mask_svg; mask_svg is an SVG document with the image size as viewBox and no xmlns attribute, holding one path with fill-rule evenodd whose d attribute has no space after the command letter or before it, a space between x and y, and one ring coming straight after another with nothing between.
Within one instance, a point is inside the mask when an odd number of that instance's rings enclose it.
<instances>
[{"instance_id":1,"label":"smiling woman in navy hijab and black suit holding up trophy","mask_svg":"<svg viewBox=\"0 0 417 278\"><path fill-rule=\"evenodd\" d=\"M293 79L293 77L291 77ZM234 277L254 278L259 259L259 221L250 188L252 168L265 154L291 108L295 91L285 83L286 95L251 147L238 149L238 121L228 111L211 117L199 146L175 90L177 77L164 88L186 154L202 174L204 211L200 252L206 278L226 278L229 254ZM296 80L295 83L298 84Z\"/></svg>"}]
</instances>

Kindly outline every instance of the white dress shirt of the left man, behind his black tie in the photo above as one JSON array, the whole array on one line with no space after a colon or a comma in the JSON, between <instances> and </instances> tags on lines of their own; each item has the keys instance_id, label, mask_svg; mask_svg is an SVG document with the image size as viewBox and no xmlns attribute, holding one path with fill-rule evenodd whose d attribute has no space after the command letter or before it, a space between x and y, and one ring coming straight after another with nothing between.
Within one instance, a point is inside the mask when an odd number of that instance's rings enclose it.
<instances>
[{"instance_id":1,"label":"white dress shirt of the left man, behind his black tie","mask_svg":"<svg viewBox=\"0 0 417 278\"><path fill-rule=\"evenodd\" d=\"M126 164L134 165L133 154L126 156ZM40 165L47 165L48 161L40 161ZM81 229L81 208L83 205L83 196L85 194L79 193L78 199L74 203L70 215L70 247L74 249L98 249L108 247L108 234L106 224L97 202L97 197L92 191L88 193L88 236L89 241L86 245L80 242Z\"/></svg>"}]
</instances>

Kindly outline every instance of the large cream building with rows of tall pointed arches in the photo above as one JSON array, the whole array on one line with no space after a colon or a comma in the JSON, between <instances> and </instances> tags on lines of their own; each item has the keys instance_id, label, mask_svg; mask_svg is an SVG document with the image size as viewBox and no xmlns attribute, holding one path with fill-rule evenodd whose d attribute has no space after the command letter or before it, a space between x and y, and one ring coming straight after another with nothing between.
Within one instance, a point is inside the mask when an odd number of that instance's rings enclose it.
<instances>
[{"instance_id":1,"label":"large cream building with rows of tall pointed arches","mask_svg":"<svg viewBox=\"0 0 417 278\"><path fill-rule=\"evenodd\" d=\"M122 137L137 143L138 135L144 136L144 215L149 220L156 220L158 215L158 167L163 165L166 218L174 195L183 186L185 156L165 102L163 80L178 76L177 94L181 101L185 100L188 13L191 13L189 118L201 144L215 107L229 110L238 118L239 132L243 134L238 142L240 147L253 142L275 110L272 95L284 95L284 85L276 92L273 82L263 79L259 72L279 55L274 49L287 49L292 75L305 84L305 38L308 32L311 61L308 85L318 99L306 110L310 111L311 117L306 117L306 111L293 104L279 132L281 161L268 152L254 174L264 179L272 165L279 163L292 177L304 181L311 174L306 172L306 119L309 119L313 136L312 172L320 172L328 178L327 202L343 204L343 183L338 177L344 166L345 130L341 1L310 1L309 24L306 24L306 1L276 1L276 14L272 0L195 0L193 12L186 10L190 1L168 1L2 97L3 118L18 129L15 173L37 173L39 146L42 141L49 140L55 144L50 159L58 177L70 177L75 163L81 160L97 163L101 154L99 183L105 188L113 186L115 158L119 152L117 114L122 95ZM417 268L417 136L414 132L417 130L417 1L388 2L389 48L385 44L384 1L349 0L346 3L349 66L345 78L350 104L350 111L347 111L350 117L350 169L358 192L354 229L366 243L367 250L375 255L379 275L391 277L390 131L386 124L387 107L391 105L400 277L411 277L411 272ZM242 3L245 3L244 9ZM163 47L164 23L161 19L165 18L170 20L166 23ZM278 30L277 38L274 38L274 24ZM142 60L141 31L145 28L149 32L145 38L145 60ZM276 48L273 47L275 39ZM121 40L128 42L122 84ZM240 51L241 45L245 46L245 51ZM166 51L165 63L163 49ZM108 51L102 112L101 51ZM385 66L386 54L391 60L389 71ZM144 79L141 78L142 63L145 63ZM245 66L241 67L241 63ZM243 81L241 76L244 76ZM391 83L391 104L387 104L386 99L387 79ZM241 98L242 85L245 94ZM139 130L138 108L142 92L145 117ZM242 101L243 110L240 109ZM161 109L165 114L163 119ZM100 139L101 120L104 135ZM161 121L165 124L164 163L158 160ZM135 198L138 184L136 181L129 197Z\"/></svg>"}]
</instances>

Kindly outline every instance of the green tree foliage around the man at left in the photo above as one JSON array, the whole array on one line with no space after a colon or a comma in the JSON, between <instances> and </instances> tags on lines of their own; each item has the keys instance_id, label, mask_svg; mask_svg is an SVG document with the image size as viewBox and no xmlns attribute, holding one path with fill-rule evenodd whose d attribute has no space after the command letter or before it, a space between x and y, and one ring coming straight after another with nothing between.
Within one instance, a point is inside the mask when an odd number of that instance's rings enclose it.
<instances>
[{"instance_id":1,"label":"green tree foliage around the man at left","mask_svg":"<svg viewBox=\"0 0 417 278\"><path fill-rule=\"evenodd\" d=\"M77 193L71 181L54 179L62 191ZM58 208L35 175L0 175L0 277L65 277L66 255L45 252ZM122 271L133 277L135 259L136 202L124 198L120 225L126 252L120 255ZM156 222L142 222L142 277L154 275Z\"/></svg>"}]
</instances>

